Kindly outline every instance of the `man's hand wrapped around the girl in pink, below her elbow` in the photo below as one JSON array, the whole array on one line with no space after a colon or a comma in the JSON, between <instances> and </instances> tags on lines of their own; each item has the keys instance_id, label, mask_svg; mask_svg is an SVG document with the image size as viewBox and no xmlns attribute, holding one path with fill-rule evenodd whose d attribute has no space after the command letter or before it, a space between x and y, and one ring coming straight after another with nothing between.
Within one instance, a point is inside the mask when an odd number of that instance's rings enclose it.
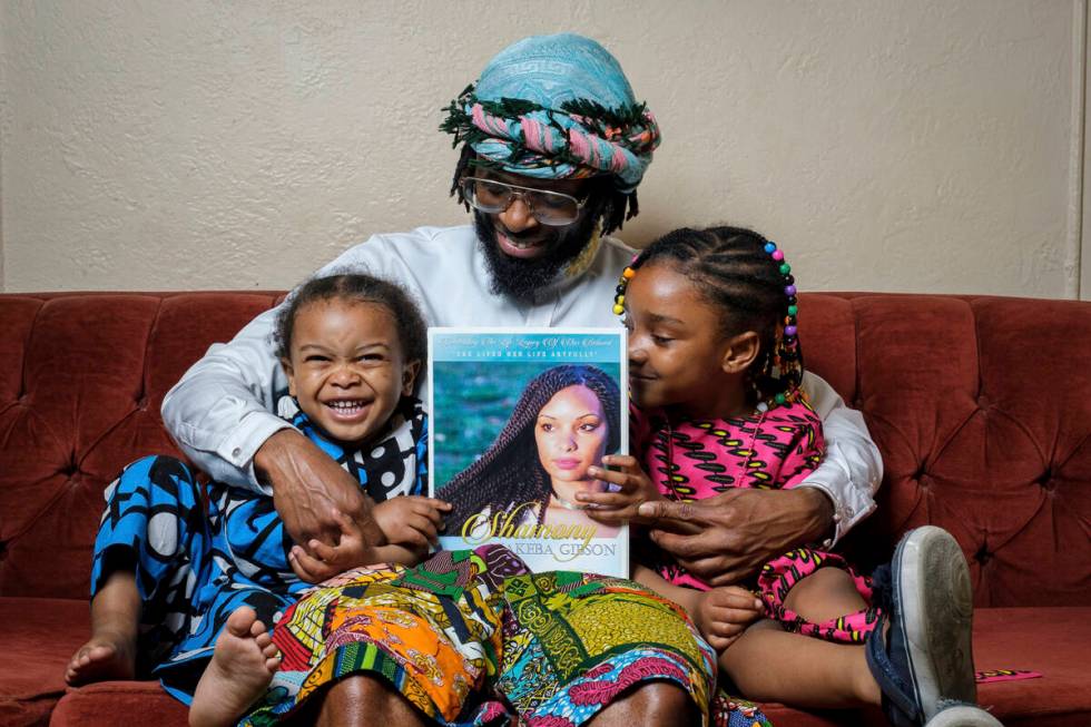
<instances>
[{"instance_id":1,"label":"man's hand wrapped around the girl in pink, below her elbow","mask_svg":"<svg viewBox=\"0 0 1091 727\"><path fill-rule=\"evenodd\" d=\"M816 488L730 490L694 502L646 502L638 511L652 541L712 586L748 578L820 539L833 522L833 503Z\"/></svg>"}]
</instances>

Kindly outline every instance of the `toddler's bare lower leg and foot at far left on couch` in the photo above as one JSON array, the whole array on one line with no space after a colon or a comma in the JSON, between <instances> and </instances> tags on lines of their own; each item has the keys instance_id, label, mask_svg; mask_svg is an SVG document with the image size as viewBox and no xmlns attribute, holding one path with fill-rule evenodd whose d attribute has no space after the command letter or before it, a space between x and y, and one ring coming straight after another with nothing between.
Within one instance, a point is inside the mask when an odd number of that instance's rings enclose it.
<instances>
[{"instance_id":1,"label":"toddler's bare lower leg and foot at far left on couch","mask_svg":"<svg viewBox=\"0 0 1091 727\"><path fill-rule=\"evenodd\" d=\"M131 679L142 601L131 570L115 570L91 600L91 638L68 662L65 681Z\"/></svg>"}]
</instances>

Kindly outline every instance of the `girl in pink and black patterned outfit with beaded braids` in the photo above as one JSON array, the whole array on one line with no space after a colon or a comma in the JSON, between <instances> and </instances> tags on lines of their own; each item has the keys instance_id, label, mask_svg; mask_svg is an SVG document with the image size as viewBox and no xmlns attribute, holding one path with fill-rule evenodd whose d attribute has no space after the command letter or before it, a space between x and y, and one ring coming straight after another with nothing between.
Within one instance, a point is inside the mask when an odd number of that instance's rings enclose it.
<instances>
[{"instance_id":1,"label":"girl in pink and black patterned outfit with beaded braids","mask_svg":"<svg viewBox=\"0 0 1091 727\"><path fill-rule=\"evenodd\" d=\"M790 266L757 233L679 229L641 252L615 305L629 331L639 460L606 458L621 471L592 475L620 492L577 499L610 523L639 521L637 508L648 500L700 508L729 488L800 482L824 443L799 389L797 311ZM915 530L900 543L893 573L883 573L873 592L841 557L795 550L749 583L760 599L739 587L711 588L661 554L645 559L635 577L688 610L748 698L810 708L882 704L894 725L923 725L947 700L972 703L972 605L957 543L938 528ZM766 620L747 628L758 615Z\"/></svg>"}]
</instances>

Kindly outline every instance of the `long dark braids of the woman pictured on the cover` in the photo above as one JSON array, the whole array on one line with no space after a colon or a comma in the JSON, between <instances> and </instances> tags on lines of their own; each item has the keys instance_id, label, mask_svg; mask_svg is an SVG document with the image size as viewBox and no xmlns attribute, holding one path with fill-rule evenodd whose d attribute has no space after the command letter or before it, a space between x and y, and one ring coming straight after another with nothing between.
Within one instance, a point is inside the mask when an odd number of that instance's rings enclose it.
<instances>
[{"instance_id":1,"label":"long dark braids of the woman pictured on the cover","mask_svg":"<svg viewBox=\"0 0 1091 727\"><path fill-rule=\"evenodd\" d=\"M552 489L538 456L534 428L542 407L569 386L587 386L598 397L606 414L606 451L618 450L621 393L617 382L594 366L566 364L549 369L527 384L508 423L481 459L440 489L439 497L454 505L448 517L450 523L461 528L486 508L495 513L531 500L542 501L538 510L538 522L542 522Z\"/></svg>"}]
</instances>

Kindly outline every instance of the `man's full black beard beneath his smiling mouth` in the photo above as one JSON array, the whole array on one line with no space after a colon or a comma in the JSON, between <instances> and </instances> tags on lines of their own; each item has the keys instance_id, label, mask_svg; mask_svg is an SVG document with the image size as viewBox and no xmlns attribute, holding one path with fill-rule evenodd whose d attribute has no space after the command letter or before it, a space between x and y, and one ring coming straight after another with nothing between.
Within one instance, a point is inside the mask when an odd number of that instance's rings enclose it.
<instances>
[{"instance_id":1,"label":"man's full black beard beneath his smiling mouth","mask_svg":"<svg viewBox=\"0 0 1091 727\"><path fill-rule=\"evenodd\" d=\"M558 228L558 234L547 243L549 248L544 253L537 257L521 258L511 257L500 249L492 217L474 210L473 228L478 233L478 246L489 265L489 287L493 294L521 303L532 302L534 293L552 283L561 269L576 259L591 240L599 216L588 214L590 212L584 209L580 219Z\"/></svg>"}]
</instances>

